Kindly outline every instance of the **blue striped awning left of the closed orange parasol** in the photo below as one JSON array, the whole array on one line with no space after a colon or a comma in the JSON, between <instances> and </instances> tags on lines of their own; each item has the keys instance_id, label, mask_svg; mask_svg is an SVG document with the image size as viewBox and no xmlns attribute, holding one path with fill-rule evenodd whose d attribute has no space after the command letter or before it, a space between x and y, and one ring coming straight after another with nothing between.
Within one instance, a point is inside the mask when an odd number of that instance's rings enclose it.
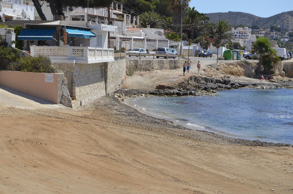
<instances>
[{"instance_id":1,"label":"blue striped awning left of the closed orange parasol","mask_svg":"<svg viewBox=\"0 0 293 194\"><path fill-rule=\"evenodd\" d=\"M56 29L23 29L18 40L52 40Z\"/></svg>"}]
</instances>

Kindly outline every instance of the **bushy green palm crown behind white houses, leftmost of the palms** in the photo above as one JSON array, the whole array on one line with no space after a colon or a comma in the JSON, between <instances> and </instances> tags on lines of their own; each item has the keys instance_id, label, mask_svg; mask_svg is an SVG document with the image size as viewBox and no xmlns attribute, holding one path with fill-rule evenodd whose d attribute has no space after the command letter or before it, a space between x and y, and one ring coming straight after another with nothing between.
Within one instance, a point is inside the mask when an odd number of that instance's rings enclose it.
<instances>
[{"instance_id":1,"label":"bushy green palm crown behind white houses, leftmost of the palms","mask_svg":"<svg viewBox=\"0 0 293 194\"><path fill-rule=\"evenodd\" d=\"M154 11L144 12L139 15L139 25L142 28L147 28L147 25L150 25L151 28L161 28L161 21L161 16Z\"/></svg>"}]
</instances>

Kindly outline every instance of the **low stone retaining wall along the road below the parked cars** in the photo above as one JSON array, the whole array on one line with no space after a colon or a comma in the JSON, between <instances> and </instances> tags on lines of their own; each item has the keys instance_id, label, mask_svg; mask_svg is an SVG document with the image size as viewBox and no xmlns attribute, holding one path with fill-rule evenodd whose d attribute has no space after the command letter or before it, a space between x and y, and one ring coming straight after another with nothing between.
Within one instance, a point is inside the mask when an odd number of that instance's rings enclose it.
<instances>
[{"instance_id":1,"label":"low stone retaining wall along the road below the parked cars","mask_svg":"<svg viewBox=\"0 0 293 194\"><path fill-rule=\"evenodd\" d=\"M152 69L177 69L181 68L185 60L139 60L127 59L126 69L132 71L150 71Z\"/></svg>"}]
</instances>

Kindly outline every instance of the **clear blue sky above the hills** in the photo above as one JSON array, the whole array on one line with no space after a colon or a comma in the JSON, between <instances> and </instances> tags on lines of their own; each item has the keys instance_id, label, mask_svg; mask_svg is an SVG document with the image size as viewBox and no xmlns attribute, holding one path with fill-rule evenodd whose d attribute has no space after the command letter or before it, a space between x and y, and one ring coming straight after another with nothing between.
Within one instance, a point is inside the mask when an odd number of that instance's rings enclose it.
<instances>
[{"instance_id":1,"label":"clear blue sky above the hills","mask_svg":"<svg viewBox=\"0 0 293 194\"><path fill-rule=\"evenodd\" d=\"M236 0L226 1L229 2L229 6L219 1L214 0L191 0L190 7L195 7L200 13L214 13L214 12L228 12L228 11L240 11L245 13L251 13L255 16L267 18L284 11L292 11L292 1L272 1L272 0ZM233 4L231 4L234 2Z\"/></svg>"}]
</instances>

